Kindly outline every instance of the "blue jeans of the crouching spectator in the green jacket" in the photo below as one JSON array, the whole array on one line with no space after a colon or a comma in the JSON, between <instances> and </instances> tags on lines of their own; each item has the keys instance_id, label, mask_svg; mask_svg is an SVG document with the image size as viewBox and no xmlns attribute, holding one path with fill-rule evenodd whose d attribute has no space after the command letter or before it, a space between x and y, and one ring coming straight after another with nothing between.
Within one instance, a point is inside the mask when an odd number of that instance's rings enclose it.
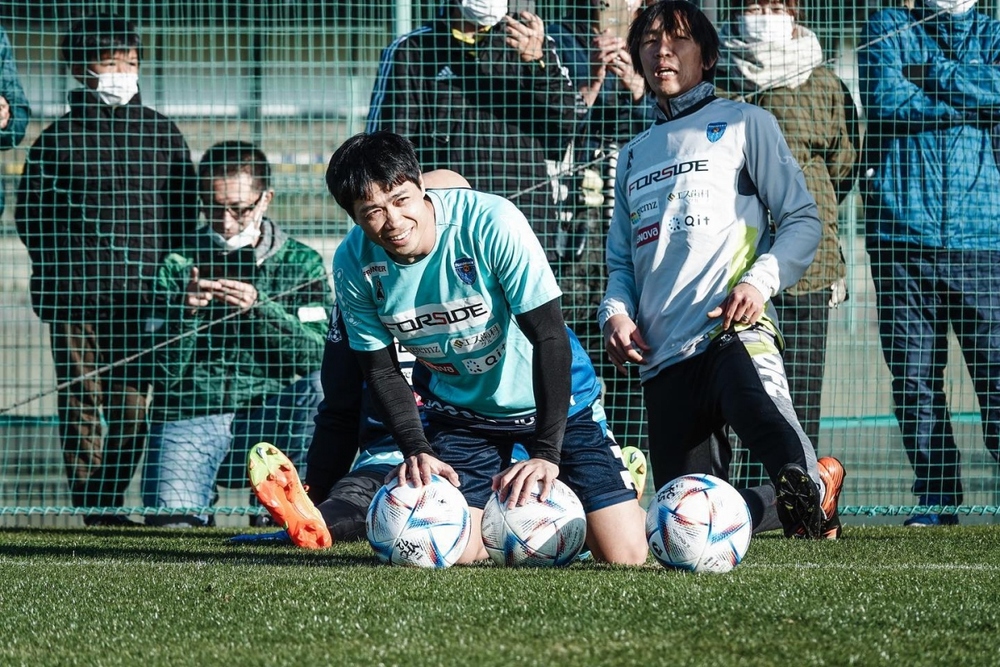
<instances>
[{"instance_id":1,"label":"blue jeans of the crouching spectator in the green jacket","mask_svg":"<svg viewBox=\"0 0 1000 667\"><path fill-rule=\"evenodd\" d=\"M209 507L216 484L249 486L246 459L258 442L285 452L304 474L306 452L316 424L316 407L323 400L319 371L311 373L258 408L154 424L150 428L142 500L147 507ZM205 514L148 516L157 526L204 526Z\"/></svg>"}]
</instances>

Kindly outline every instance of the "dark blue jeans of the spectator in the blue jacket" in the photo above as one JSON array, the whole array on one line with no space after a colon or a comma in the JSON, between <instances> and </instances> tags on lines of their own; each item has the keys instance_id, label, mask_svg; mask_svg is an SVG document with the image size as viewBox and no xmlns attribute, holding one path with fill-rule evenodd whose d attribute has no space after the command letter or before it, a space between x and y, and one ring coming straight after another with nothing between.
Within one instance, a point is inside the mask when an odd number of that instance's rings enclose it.
<instances>
[{"instance_id":1,"label":"dark blue jeans of the spectator in the blue jacket","mask_svg":"<svg viewBox=\"0 0 1000 667\"><path fill-rule=\"evenodd\" d=\"M870 247L882 354L913 492L962 502L944 369L955 331L979 397L986 449L1000 460L1000 252Z\"/></svg>"}]
</instances>

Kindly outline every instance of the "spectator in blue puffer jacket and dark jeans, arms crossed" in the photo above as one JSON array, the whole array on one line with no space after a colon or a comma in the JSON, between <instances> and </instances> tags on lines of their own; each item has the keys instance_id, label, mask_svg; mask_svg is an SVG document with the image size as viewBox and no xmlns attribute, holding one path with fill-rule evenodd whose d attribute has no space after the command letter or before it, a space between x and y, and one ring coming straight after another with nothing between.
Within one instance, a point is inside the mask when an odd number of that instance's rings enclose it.
<instances>
[{"instance_id":1,"label":"spectator in blue puffer jacket and dark jeans, arms crossed","mask_svg":"<svg viewBox=\"0 0 1000 667\"><path fill-rule=\"evenodd\" d=\"M882 352L921 505L963 502L944 369L949 325L1000 459L1000 22L918 0L865 25L862 179ZM931 511L908 526L958 523Z\"/></svg>"}]
</instances>

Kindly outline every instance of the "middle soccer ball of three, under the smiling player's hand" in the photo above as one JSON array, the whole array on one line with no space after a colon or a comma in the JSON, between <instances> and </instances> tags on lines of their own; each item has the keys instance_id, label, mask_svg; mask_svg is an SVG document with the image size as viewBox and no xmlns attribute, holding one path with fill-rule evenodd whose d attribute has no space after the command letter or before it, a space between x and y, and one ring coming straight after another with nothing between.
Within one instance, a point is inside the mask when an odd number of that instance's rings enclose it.
<instances>
[{"instance_id":1,"label":"middle soccer ball of three, under the smiling player's hand","mask_svg":"<svg viewBox=\"0 0 1000 667\"><path fill-rule=\"evenodd\" d=\"M507 507L496 492L483 510L483 544L498 565L554 567L573 562L587 537L580 499L555 480L549 497L538 500L541 482L520 507Z\"/></svg>"}]
</instances>

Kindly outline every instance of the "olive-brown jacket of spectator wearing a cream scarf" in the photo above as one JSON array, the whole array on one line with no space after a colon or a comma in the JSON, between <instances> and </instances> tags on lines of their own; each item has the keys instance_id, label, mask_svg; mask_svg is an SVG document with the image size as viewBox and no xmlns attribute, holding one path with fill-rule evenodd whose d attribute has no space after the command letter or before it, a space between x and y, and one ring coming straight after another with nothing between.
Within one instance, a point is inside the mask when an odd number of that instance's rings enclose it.
<instances>
[{"instance_id":1,"label":"olive-brown jacket of spectator wearing a cream scarf","mask_svg":"<svg viewBox=\"0 0 1000 667\"><path fill-rule=\"evenodd\" d=\"M720 69L716 87L725 97L735 97L732 71ZM857 151L845 120L845 90L837 76L825 67L817 67L805 83L757 91L746 101L766 109L778 121L788 148L802 167L806 187L816 200L823 236L812 264L802 278L785 290L801 295L829 290L847 275L840 251L838 192L849 190ZM853 101L847 100L853 104Z\"/></svg>"}]
</instances>

